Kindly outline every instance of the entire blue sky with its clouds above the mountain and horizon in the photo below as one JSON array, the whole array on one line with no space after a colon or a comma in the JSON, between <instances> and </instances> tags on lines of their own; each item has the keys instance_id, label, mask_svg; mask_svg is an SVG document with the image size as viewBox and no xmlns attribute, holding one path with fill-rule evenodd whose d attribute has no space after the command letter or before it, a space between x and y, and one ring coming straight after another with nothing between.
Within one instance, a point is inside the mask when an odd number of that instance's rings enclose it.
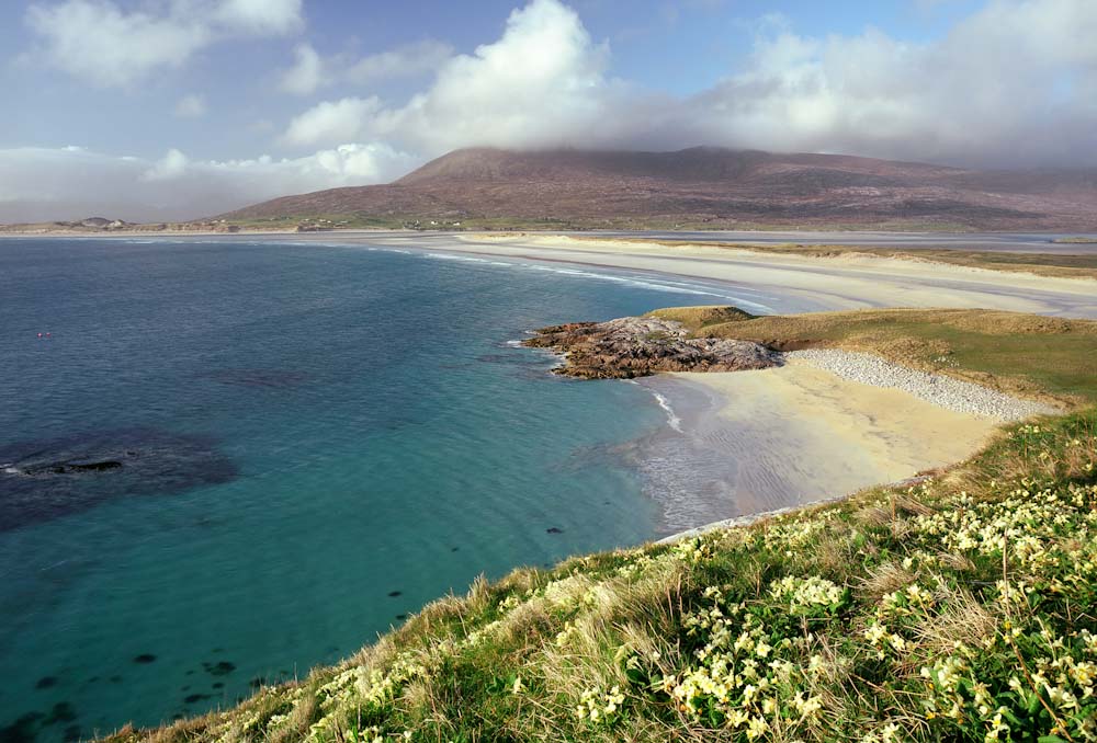
<instances>
[{"instance_id":1,"label":"entire blue sky with its clouds above the mountain and horizon","mask_svg":"<svg viewBox=\"0 0 1097 743\"><path fill-rule=\"evenodd\" d=\"M3 0L0 221L219 214L475 146L1097 165L1097 0Z\"/></svg>"}]
</instances>

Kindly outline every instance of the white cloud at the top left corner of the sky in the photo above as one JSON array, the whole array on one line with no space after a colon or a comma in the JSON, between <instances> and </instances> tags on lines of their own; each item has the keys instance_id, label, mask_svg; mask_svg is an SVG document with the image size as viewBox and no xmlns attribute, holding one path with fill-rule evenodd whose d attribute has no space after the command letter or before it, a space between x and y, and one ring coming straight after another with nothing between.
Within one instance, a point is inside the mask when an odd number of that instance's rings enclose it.
<instances>
[{"instance_id":1,"label":"white cloud at the top left corner of the sky","mask_svg":"<svg viewBox=\"0 0 1097 743\"><path fill-rule=\"evenodd\" d=\"M38 55L103 87L132 85L158 69L178 68L219 39L282 35L304 23L301 0L166 0L149 9L65 0L32 4L26 23L41 39Z\"/></svg>"}]
</instances>

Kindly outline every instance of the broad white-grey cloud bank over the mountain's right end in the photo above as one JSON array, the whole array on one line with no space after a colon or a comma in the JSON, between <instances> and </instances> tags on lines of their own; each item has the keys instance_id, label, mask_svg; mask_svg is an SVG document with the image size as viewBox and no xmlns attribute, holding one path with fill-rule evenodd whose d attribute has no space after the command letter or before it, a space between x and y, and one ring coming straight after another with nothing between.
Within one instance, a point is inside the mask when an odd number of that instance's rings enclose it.
<instances>
[{"instance_id":1,"label":"broad white-grey cloud bank over the mountain's right end","mask_svg":"<svg viewBox=\"0 0 1097 743\"><path fill-rule=\"evenodd\" d=\"M736 147L1078 164L1097 147L1097 106L1054 91L1097 81L1095 34L1089 0L992 1L924 44L770 24L747 68L685 101L671 128Z\"/></svg>"}]
</instances>

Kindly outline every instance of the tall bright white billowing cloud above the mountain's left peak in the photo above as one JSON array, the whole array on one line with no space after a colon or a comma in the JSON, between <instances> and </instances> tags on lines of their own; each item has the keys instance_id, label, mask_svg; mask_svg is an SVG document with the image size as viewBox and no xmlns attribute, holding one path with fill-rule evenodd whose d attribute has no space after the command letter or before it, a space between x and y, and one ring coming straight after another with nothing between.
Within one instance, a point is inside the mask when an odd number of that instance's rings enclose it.
<instances>
[{"instance_id":1,"label":"tall bright white billowing cloud above the mountain's left peak","mask_svg":"<svg viewBox=\"0 0 1097 743\"><path fill-rule=\"evenodd\" d=\"M614 95L603 77L608 57L575 11L533 0L510 14L499 41L445 60L407 105L385 108L376 98L324 102L294 118L284 139L382 138L425 155L471 145L589 142Z\"/></svg>"}]
</instances>

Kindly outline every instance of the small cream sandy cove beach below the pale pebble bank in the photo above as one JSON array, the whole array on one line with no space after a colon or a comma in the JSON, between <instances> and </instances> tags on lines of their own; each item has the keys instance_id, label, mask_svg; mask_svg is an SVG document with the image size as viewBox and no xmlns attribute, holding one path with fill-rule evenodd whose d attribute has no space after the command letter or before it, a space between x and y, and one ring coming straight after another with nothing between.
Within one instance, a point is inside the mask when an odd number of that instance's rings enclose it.
<instances>
[{"instance_id":1,"label":"small cream sandy cove beach below the pale pebble bank","mask_svg":"<svg viewBox=\"0 0 1097 743\"><path fill-rule=\"evenodd\" d=\"M904 480L965 459L998 426L795 361L758 372L669 376L701 386L720 401L717 420L703 413L687 419L682 436L692 438L694 448L723 453L728 462L716 502L703 504L703 512L700 503L674 504L679 510L667 511L669 529L697 526L702 513L711 522Z\"/></svg>"}]
</instances>

